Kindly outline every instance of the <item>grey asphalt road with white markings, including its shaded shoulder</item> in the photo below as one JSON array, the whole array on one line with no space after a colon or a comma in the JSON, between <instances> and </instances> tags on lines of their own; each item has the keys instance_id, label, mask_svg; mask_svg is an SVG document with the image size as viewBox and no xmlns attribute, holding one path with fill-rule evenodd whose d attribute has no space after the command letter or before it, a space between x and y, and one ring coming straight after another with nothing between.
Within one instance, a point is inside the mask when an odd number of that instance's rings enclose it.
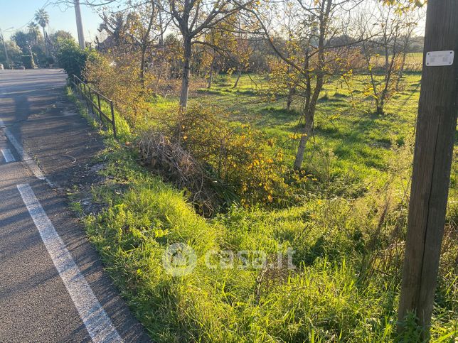
<instances>
[{"instance_id":1,"label":"grey asphalt road with white markings, including its shaded shoulder","mask_svg":"<svg viewBox=\"0 0 458 343\"><path fill-rule=\"evenodd\" d=\"M102 143L61 70L0 70L0 342L148 342L68 209Z\"/></svg>"}]
</instances>

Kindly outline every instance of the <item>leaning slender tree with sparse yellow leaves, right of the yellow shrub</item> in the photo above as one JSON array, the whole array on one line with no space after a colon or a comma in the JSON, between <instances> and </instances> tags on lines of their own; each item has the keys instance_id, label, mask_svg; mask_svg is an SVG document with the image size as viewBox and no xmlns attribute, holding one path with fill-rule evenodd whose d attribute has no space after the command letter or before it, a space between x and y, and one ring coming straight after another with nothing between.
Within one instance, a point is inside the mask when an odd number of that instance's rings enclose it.
<instances>
[{"instance_id":1,"label":"leaning slender tree with sparse yellow leaves, right of the yellow shrub","mask_svg":"<svg viewBox=\"0 0 458 343\"><path fill-rule=\"evenodd\" d=\"M351 43L336 43L335 38L346 32L348 13L361 0L286 0L282 4L294 11L289 25L295 29L289 36L289 50L284 50L275 37L284 33L277 31L277 21L271 13L248 9L259 21L263 34L272 50L291 70L297 83L297 94L302 97L301 135L294 168L302 168L307 141L313 133L316 105L326 82L345 72L344 56ZM282 10L280 10L282 11ZM357 43L355 40L352 43ZM292 49L294 47L294 49ZM294 53L293 53L294 52Z\"/></svg>"}]
</instances>

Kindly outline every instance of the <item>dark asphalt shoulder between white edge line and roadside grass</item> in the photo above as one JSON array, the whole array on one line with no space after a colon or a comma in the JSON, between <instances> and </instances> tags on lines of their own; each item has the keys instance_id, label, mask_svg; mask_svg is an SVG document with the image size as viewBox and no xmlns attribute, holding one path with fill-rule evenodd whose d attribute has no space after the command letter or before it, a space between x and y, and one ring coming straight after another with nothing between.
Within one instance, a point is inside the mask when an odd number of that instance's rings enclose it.
<instances>
[{"instance_id":1,"label":"dark asphalt shoulder between white edge line and roadside grass","mask_svg":"<svg viewBox=\"0 0 458 343\"><path fill-rule=\"evenodd\" d=\"M102 138L78 114L64 89L56 100L46 109L32 109L35 114L21 124L24 149L53 184L52 192L44 183L34 185L33 190L120 336L129 342L147 342L149 337L142 325L119 297L75 212L69 209L68 195L73 190L88 190L92 184L102 182L97 173L100 164L95 161L105 148Z\"/></svg>"}]
</instances>

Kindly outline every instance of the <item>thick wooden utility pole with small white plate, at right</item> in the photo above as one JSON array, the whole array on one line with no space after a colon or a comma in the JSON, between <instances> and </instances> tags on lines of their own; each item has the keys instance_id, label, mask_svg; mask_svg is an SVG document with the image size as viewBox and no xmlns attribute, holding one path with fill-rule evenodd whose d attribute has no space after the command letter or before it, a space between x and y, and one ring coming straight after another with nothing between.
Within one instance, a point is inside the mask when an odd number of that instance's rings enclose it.
<instances>
[{"instance_id":1,"label":"thick wooden utility pole with small white plate, at right","mask_svg":"<svg viewBox=\"0 0 458 343\"><path fill-rule=\"evenodd\" d=\"M457 126L457 53L458 0L428 0L398 312L398 319L403 320L408 311L414 311L425 330L430 327L435 298Z\"/></svg>"}]
</instances>

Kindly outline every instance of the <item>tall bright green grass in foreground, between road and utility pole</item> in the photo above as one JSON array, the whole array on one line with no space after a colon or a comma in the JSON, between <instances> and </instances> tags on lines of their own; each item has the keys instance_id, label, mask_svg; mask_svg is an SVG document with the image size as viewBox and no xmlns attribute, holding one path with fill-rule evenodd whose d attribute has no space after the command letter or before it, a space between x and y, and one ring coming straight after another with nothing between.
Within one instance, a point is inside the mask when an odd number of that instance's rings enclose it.
<instances>
[{"instance_id":1,"label":"tall bright green grass in foreground, between road and utility pole","mask_svg":"<svg viewBox=\"0 0 458 343\"><path fill-rule=\"evenodd\" d=\"M155 341L397 339L400 274L376 268L369 273L364 263L367 256L389 249L399 217L387 219L385 233L369 250L367 242L380 220L373 195L356 202L315 200L273 212L233 208L208 221L194 212L182 191L142 170L129 151L117 151L109 160L103 173L110 178L94 190L95 201L106 208L85 217L87 232ZM179 278L161 264L166 247L175 242L188 244L198 256L193 273ZM287 246L295 251L294 271L211 269L204 263L211 249L262 250L270 256ZM454 282L441 277L438 294L445 292L449 303L436 309L435 337L452 337Z\"/></svg>"}]
</instances>

